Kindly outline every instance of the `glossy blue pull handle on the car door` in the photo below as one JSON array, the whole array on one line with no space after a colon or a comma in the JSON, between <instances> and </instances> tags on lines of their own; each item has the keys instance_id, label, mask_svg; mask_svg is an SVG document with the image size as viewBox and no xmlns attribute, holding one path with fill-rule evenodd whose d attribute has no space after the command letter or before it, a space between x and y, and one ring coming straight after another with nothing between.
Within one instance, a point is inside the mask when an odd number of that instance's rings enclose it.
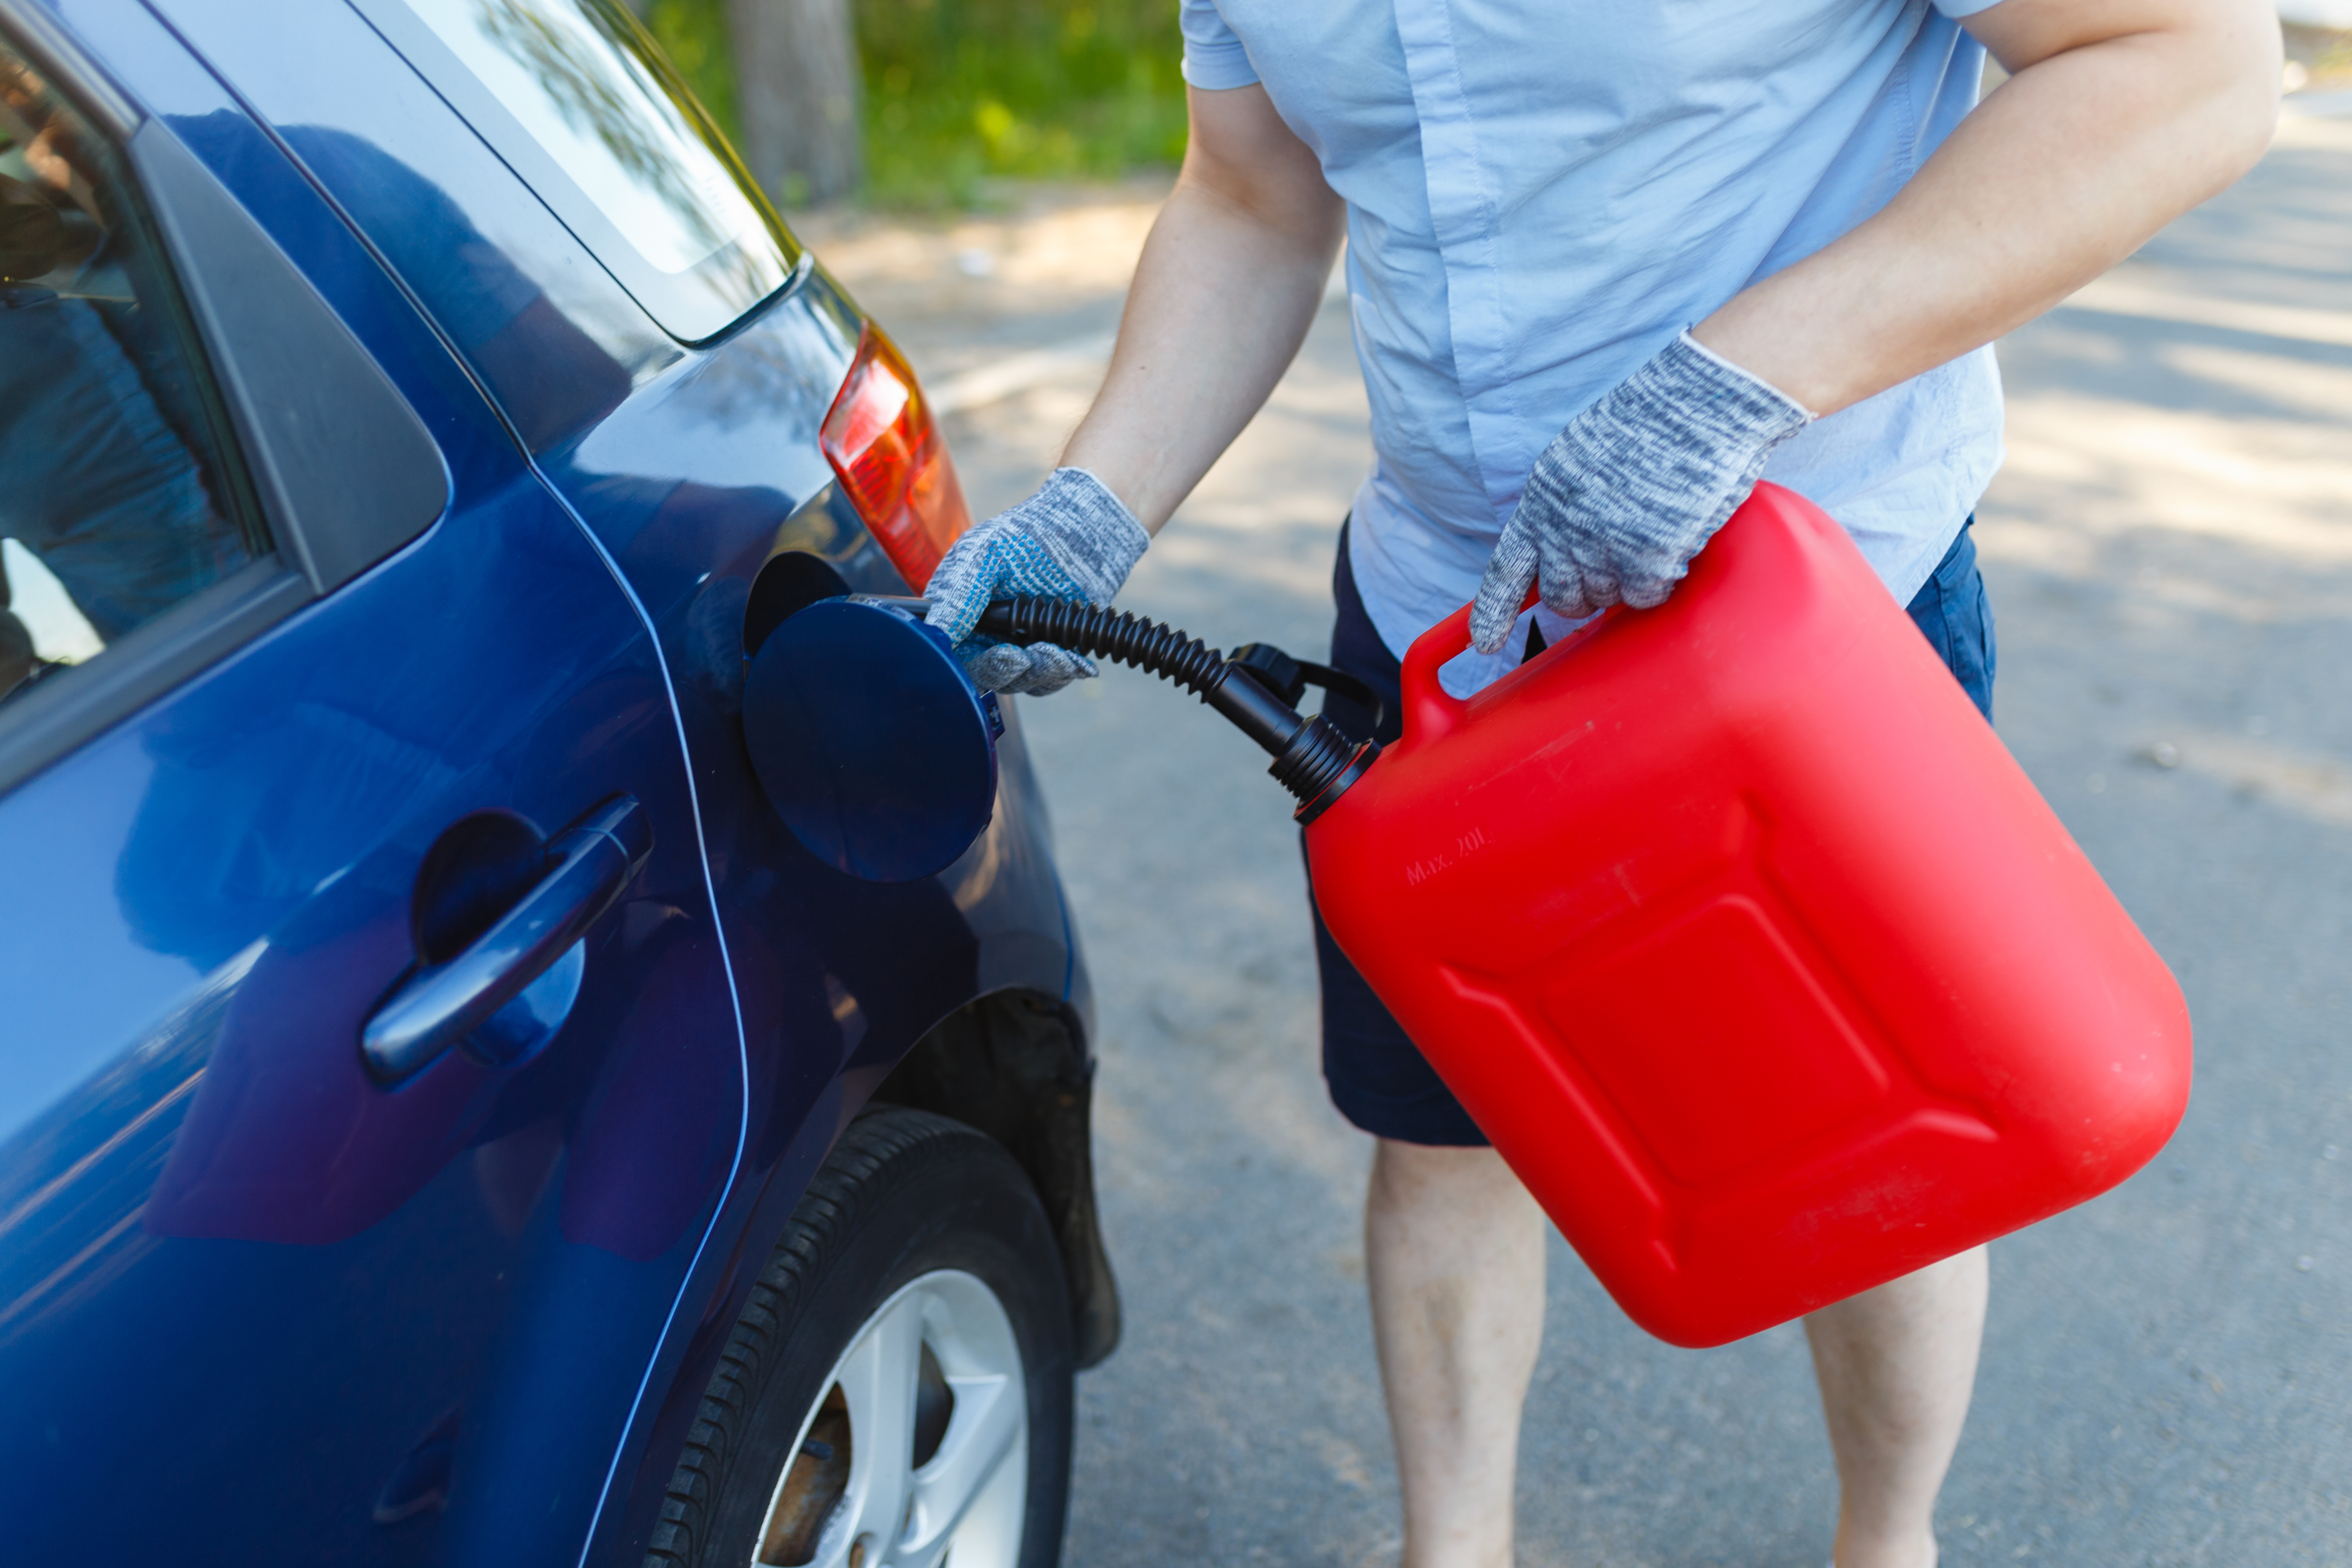
<instances>
[{"instance_id":1,"label":"glossy blue pull handle on the car door","mask_svg":"<svg viewBox=\"0 0 2352 1568\"><path fill-rule=\"evenodd\" d=\"M548 844L548 870L461 954L409 973L360 1027L360 1058L397 1084L482 1027L536 980L630 884L654 849L633 795L619 795Z\"/></svg>"}]
</instances>

